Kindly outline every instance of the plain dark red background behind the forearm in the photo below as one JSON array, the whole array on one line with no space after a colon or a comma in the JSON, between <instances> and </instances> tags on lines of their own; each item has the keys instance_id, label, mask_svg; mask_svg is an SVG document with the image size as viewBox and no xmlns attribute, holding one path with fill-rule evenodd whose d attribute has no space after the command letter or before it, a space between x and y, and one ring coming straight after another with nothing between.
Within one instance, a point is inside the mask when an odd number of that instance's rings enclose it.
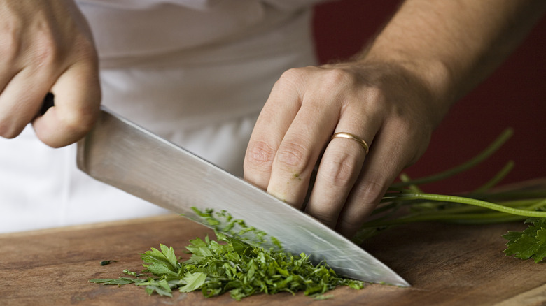
<instances>
[{"instance_id":1,"label":"plain dark red background behind the forearm","mask_svg":"<svg viewBox=\"0 0 546 306\"><path fill-rule=\"evenodd\" d=\"M358 52L395 11L398 0L344 0L316 7L314 31L321 62ZM509 160L504 183L546 177L546 18L491 77L459 101L438 126L421 159L405 171L422 177L475 156L508 126L514 136L476 168L439 183L428 192L468 191L488 181Z\"/></svg>"}]
</instances>

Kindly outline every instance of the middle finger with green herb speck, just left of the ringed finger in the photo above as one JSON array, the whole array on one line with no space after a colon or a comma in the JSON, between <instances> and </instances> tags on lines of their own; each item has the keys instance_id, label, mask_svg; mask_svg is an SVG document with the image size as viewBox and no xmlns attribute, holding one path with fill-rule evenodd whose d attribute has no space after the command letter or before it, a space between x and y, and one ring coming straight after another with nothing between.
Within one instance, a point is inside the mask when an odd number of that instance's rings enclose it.
<instances>
[{"instance_id":1,"label":"middle finger with green herb speck, just left of the ringed finger","mask_svg":"<svg viewBox=\"0 0 546 306\"><path fill-rule=\"evenodd\" d=\"M325 103L321 101L325 95L310 93L279 145L267 187L267 192L297 208L302 207L318 156L339 119L340 103Z\"/></svg>"}]
</instances>

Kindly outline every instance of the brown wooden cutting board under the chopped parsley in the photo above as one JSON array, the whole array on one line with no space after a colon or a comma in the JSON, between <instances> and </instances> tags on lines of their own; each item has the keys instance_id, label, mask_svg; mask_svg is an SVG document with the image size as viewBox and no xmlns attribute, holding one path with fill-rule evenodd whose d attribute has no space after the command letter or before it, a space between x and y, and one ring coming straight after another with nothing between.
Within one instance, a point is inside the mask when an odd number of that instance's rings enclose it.
<instances>
[{"instance_id":1,"label":"brown wooden cutting board under the chopped parsley","mask_svg":"<svg viewBox=\"0 0 546 306\"><path fill-rule=\"evenodd\" d=\"M507 231L524 224L460 226L414 224L387 231L365 244L412 284L371 284L360 291L330 291L328 300L299 293L258 295L240 302L200 292L174 298L148 296L134 285L104 286L92 278L141 270L139 254L160 243L179 256L188 240L212 235L208 228L166 215L0 235L0 305L546 305L546 265L503 254ZM100 261L116 260L110 265Z\"/></svg>"}]
</instances>

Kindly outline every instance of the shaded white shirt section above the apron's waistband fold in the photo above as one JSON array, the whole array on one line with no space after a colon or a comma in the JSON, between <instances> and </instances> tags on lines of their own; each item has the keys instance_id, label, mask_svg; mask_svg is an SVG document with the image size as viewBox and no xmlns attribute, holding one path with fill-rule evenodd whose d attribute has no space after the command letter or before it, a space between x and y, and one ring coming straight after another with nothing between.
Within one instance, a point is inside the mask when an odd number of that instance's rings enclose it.
<instances>
[{"instance_id":1,"label":"shaded white shirt section above the apron's waistband fold","mask_svg":"<svg viewBox=\"0 0 546 306\"><path fill-rule=\"evenodd\" d=\"M118 68L123 63L201 65L286 50L266 40L288 43L287 39L297 38L302 24L293 22L301 20L308 4L317 0L77 2L92 21L103 66Z\"/></svg>"}]
</instances>

